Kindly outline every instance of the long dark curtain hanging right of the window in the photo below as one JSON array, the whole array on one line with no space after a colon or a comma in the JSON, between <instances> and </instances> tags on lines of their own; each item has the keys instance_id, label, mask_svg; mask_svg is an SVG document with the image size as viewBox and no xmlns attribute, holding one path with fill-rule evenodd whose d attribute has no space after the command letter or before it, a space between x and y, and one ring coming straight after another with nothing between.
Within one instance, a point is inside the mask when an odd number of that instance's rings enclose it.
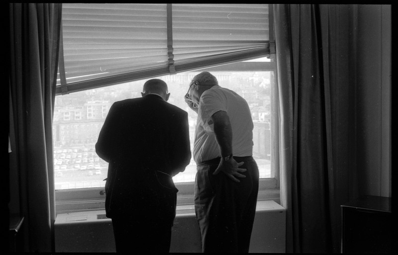
<instances>
[{"instance_id":1,"label":"long dark curtain hanging right of the window","mask_svg":"<svg viewBox=\"0 0 398 255\"><path fill-rule=\"evenodd\" d=\"M347 199L350 170L348 132L341 129L351 105L349 7L273 7L287 252L338 253L339 204Z\"/></svg>"}]
</instances>

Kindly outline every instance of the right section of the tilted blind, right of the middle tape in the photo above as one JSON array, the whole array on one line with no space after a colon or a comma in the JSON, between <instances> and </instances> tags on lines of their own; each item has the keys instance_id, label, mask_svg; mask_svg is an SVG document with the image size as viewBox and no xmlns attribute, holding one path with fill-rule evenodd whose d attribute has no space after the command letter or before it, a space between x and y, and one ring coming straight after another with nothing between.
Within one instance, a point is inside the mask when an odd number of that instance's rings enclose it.
<instances>
[{"instance_id":1,"label":"right section of the tilted blind, right of the middle tape","mask_svg":"<svg viewBox=\"0 0 398 255\"><path fill-rule=\"evenodd\" d=\"M220 59L239 60L245 54L256 55L264 51L263 54L266 55L269 53L268 24L267 4L218 4L217 7L175 4L175 64L183 68L184 65L193 65L195 61L215 64ZM209 41L209 38L212 40ZM256 42L252 43L252 40ZM235 48L229 46L229 43L233 43Z\"/></svg>"}]
</instances>

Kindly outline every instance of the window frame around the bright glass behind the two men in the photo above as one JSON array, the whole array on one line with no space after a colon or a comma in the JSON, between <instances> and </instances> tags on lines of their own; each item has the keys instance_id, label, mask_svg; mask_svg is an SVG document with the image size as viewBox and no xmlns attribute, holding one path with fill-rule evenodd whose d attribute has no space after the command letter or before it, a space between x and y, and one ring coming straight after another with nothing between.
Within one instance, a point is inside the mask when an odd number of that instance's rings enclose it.
<instances>
[{"instance_id":1,"label":"window frame around the bright glass behind the two men","mask_svg":"<svg viewBox=\"0 0 398 255\"><path fill-rule=\"evenodd\" d=\"M274 155L271 166L272 170L275 170L275 177L273 178L262 178L259 180L259 194L258 201L261 200L275 200L280 201L280 190L279 190L279 147L278 147L278 114L276 109L278 107L277 97L277 81L276 81L276 61L274 59L271 62L239 62L226 64L218 67L204 68L200 71L217 72L217 71L235 71L235 72L274 72L274 81L272 86L272 106L274 107L271 111L273 114L273 128L272 146L274 148ZM62 95L60 95L62 96ZM275 153L276 152L276 153ZM194 184L195 182L181 182L175 183L179 192L177 193L177 205L192 205L194 204ZM55 206L56 213L67 213L82 210L99 210L105 208L105 192L104 187L96 188L77 188L77 189L62 189L55 190Z\"/></svg>"}]
</instances>

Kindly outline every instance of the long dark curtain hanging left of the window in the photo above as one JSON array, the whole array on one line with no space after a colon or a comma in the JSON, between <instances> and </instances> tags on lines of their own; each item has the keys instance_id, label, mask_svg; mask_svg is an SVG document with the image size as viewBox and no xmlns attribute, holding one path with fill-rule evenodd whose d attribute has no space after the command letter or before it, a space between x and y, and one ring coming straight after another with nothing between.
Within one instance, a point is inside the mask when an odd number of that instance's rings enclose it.
<instances>
[{"instance_id":1,"label":"long dark curtain hanging left of the window","mask_svg":"<svg viewBox=\"0 0 398 255\"><path fill-rule=\"evenodd\" d=\"M19 175L27 252L54 252L52 117L60 3L9 3L10 171Z\"/></svg>"}]
</instances>

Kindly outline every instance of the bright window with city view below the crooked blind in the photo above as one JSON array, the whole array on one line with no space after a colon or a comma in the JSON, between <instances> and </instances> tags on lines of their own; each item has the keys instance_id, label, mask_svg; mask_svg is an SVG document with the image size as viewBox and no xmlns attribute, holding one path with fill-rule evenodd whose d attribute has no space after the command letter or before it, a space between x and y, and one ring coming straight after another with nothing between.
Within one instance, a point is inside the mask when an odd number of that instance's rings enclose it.
<instances>
[{"instance_id":1,"label":"bright window with city view below the crooked blind","mask_svg":"<svg viewBox=\"0 0 398 255\"><path fill-rule=\"evenodd\" d=\"M267 61L269 60L267 59ZM243 71L238 71L238 64ZM248 65L250 68L257 65L259 70L263 69L264 71L247 71L244 68L247 64L250 64ZM276 142L274 138L276 120L272 110L275 107L275 95L273 94L275 77L274 72L266 68L273 68L273 64L273 62L240 62L234 64L231 70L223 66L206 69L217 77L221 86L231 88L242 95L250 106L254 123L253 156L259 166L260 188L262 190L277 189L279 178L278 166L275 164L277 163L275 161L277 155L274 155L276 153L274 149ZM193 146L194 141L197 114L185 104L184 94L186 93L189 81L201 71L159 77L168 84L169 92L171 93L169 102L189 113L191 146ZM105 109L108 110L110 105L115 101L140 97L142 85L146 80L94 88L90 91L80 91L69 95L59 95L56 96L54 110L55 112L62 111L63 108L70 107L70 104L80 101L83 105L86 105L83 107L94 111L97 105L97 108L104 113ZM61 97L62 100L59 100ZM96 100L93 100L94 98ZM90 104L86 102L90 102ZM106 102L107 106L103 105L103 102ZM95 153L95 143L97 142L106 114L100 119L89 118L87 116L87 119L82 118L79 122L74 120L69 123L54 118L53 126L56 127L54 130L68 128L74 130L74 132L69 133L61 132L61 134L53 134L54 137L60 137L58 141L54 139L54 158L58 159L63 154L76 158L76 160L72 158L66 167L57 170L58 172L62 172L62 175L55 176L55 189L58 193L66 195L65 191L70 190L76 191L72 193L79 194L79 196L85 196L89 193L88 189L91 189L91 191L97 190L98 194L103 189L105 184L103 179L106 178L108 164ZM54 114L54 116L57 116L57 114ZM58 125L60 125L60 128L57 127ZM63 153L65 150L69 150L70 153ZM98 174L92 174L96 170L100 170L97 171ZM180 190L179 194L183 198L191 194L191 197L186 198L187 203L188 201L193 201L192 193L195 174L196 164L192 159L186 170L174 177L174 181ZM84 191L84 189L87 189L87 191Z\"/></svg>"}]
</instances>

